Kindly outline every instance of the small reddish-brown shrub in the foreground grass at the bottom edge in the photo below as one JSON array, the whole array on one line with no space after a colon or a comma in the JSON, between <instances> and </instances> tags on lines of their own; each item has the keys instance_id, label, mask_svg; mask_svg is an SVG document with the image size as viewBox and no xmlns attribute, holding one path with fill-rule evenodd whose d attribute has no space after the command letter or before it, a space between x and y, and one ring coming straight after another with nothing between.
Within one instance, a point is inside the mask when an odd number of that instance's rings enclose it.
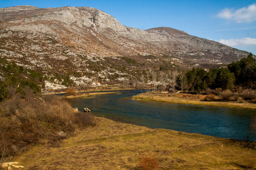
<instances>
[{"instance_id":1,"label":"small reddish-brown shrub in the foreground grass at the bottom edge","mask_svg":"<svg viewBox=\"0 0 256 170\"><path fill-rule=\"evenodd\" d=\"M141 158L139 158L139 169L153 170L158 168L159 163L156 158L151 158L150 156L141 156Z\"/></svg>"}]
</instances>

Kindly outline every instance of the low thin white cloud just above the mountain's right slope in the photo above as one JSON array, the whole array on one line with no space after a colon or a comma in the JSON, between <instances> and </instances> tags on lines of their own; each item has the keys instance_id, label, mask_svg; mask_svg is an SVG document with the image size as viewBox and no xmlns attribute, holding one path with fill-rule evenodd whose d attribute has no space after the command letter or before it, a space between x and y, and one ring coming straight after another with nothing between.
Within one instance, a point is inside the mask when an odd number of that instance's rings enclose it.
<instances>
[{"instance_id":1,"label":"low thin white cloud just above the mountain's right slope","mask_svg":"<svg viewBox=\"0 0 256 170\"><path fill-rule=\"evenodd\" d=\"M225 44L228 46L256 45L256 39L252 39L248 37L243 39L229 39L229 40L221 39L218 42L221 42L222 44Z\"/></svg>"}]
</instances>

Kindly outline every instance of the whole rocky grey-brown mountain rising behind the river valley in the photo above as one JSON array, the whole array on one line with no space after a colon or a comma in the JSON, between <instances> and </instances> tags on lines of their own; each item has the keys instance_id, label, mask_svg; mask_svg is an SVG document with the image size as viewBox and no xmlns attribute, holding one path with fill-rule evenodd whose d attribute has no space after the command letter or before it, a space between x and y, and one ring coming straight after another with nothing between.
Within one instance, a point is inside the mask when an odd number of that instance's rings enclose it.
<instances>
[{"instance_id":1,"label":"whole rocky grey-brown mountain rising behind the river valley","mask_svg":"<svg viewBox=\"0 0 256 170\"><path fill-rule=\"evenodd\" d=\"M248 52L174 28L126 27L91 7L0 8L0 56L79 83L138 77L173 66L226 64Z\"/></svg>"}]
</instances>

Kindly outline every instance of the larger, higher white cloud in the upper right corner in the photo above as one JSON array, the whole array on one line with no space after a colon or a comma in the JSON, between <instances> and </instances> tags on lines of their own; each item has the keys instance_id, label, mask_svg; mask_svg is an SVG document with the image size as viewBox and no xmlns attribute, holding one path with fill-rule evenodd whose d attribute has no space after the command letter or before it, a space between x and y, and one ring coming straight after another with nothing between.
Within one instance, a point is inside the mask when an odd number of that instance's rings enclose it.
<instances>
[{"instance_id":1,"label":"larger, higher white cloud in the upper right corner","mask_svg":"<svg viewBox=\"0 0 256 170\"><path fill-rule=\"evenodd\" d=\"M217 15L218 18L234 20L237 23L256 21L256 4L243 7L238 10L225 8Z\"/></svg>"}]
</instances>

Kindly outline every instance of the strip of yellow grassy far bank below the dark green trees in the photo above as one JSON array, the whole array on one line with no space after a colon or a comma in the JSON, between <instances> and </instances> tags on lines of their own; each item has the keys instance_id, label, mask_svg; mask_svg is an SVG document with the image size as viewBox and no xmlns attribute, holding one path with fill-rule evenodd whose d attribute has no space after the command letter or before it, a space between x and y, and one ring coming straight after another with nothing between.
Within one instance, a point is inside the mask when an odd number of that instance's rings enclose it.
<instances>
[{"instance_id":1,"label":"strip of yellow grassy far bank below the dark green trees","mask_svg":"<svg viewBox=\"0 0 256 170\"><path fill-rule=\"evenodd\" d=\"M179 104L195 104L195 105L212 105L217 107L235 107L235 108L248 108L256 109L256 104L242 101L203 101L203 95L187 95L187 94L151 94L143 93L133 96L134 100L152 100L152 101L164 101L168 103Z\"/></svg>"}]
</instances>

